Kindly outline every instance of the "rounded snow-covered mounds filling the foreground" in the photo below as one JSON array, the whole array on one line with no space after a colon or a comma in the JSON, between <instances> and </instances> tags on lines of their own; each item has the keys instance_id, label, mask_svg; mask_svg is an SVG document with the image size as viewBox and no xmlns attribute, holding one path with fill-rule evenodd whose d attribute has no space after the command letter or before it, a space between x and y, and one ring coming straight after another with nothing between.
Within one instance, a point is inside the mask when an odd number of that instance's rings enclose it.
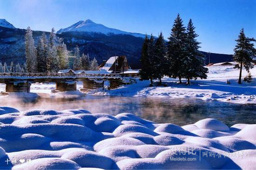
<instances>
[{"instance_id":1,"label":"rounded snow-covered mounds filling the foreground","mask_svg":"<svg viewBox=\"0 0 256 170\"><path fill-rule=\"evenodd\" d=\"M0 169L256 169L256 124L0 107Z\"/></svg>"}]
</instances>

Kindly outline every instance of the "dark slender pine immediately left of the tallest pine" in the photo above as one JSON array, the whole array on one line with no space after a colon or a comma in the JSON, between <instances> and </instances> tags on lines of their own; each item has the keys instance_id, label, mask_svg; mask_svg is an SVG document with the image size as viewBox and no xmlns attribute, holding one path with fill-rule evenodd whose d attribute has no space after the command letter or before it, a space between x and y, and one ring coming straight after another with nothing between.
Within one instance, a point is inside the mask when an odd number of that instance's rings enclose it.
<instances>
[{"instance_id":1,"label":"dark slender pine immediately left of the tallest pine","mask_svg":"<svg viewBox=\"0 0 256 170\"><path fill-rule=\"evenodd\" d=\"M155 78L159 79L159 84L162 84L162 77L165 73L166 68L166 47L162 32L155 41L155 56L153 58L153 67Z\"/></svg>"}]
</instances>

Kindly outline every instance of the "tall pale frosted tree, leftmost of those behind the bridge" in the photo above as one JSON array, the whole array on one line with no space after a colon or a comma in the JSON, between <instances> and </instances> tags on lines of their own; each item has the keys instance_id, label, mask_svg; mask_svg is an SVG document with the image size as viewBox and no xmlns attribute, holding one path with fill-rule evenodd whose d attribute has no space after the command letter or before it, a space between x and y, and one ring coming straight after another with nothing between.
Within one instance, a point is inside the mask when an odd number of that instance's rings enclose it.
<instances>
[{"instance_id":1,"label":"tall pale frosted tree, leftmost of those behind the bridge","mask_svg":"<svg viewBox=\"0 0 256 170\"><path fill-rule=\"evenodd\" d=\"M37 61L36 61L36 49L34 46L33 31L30 27L27 27L25 35L25 44L26 44L26 63L28 72L37 71Z\"/></svg>"}]
</instances>

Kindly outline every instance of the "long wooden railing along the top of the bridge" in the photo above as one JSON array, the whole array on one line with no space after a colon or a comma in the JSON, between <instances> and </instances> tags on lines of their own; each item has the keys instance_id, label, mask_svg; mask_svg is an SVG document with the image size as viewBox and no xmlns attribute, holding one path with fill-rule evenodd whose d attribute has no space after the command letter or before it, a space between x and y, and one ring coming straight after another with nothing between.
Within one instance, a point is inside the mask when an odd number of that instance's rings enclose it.
<instances>
[{"instance_id":1,"label":"long wooden railing along the top of the bridge","mask_svg":"<svg viewBox=\"0 0 256 170\"><path fill-rule=\"evenodd\" d=\"M119 74L74 74L74 73L0 73L1 77L121 77Z\"/></svg>"}]
</instances>

